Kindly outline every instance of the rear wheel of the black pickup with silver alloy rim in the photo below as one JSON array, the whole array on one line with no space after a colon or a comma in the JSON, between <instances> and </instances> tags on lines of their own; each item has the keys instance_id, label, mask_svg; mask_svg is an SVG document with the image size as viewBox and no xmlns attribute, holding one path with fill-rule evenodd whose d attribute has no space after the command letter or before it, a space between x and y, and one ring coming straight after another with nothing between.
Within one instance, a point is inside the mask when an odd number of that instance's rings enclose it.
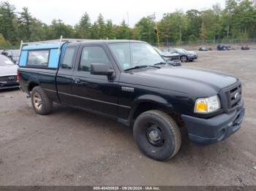
<instances>
[{"instance_id":1,"label":"rear wheel of the black pickup with silver alloy rim","mask_svg":"<svg viewBox=\"0 0 256 191\"><path fill-rule=\"evenodd\" d=\"M38 114L49 114L53 110L53 101L50 101L39 86L34 87L31 91L31 103L34 111Z\"/></svg>"}]
</instances>

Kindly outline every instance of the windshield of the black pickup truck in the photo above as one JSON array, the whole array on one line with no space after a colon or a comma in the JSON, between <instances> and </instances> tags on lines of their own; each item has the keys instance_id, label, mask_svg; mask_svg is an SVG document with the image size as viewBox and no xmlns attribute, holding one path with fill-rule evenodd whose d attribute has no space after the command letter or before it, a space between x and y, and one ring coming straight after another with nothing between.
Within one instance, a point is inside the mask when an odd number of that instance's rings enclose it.
<instances>
[{"instance_id":1,"label":"windshield of the black pickup truck","mask_svg":"<svg viewBox=\"0 0 256 191\"><path fill-rule=\"evenodd\" d=\"M109 47L124 70L135 66L154 66L156 63L165 62L159 53L146 43L113 43L109 44Z\"/></svg>"}]
</instances>

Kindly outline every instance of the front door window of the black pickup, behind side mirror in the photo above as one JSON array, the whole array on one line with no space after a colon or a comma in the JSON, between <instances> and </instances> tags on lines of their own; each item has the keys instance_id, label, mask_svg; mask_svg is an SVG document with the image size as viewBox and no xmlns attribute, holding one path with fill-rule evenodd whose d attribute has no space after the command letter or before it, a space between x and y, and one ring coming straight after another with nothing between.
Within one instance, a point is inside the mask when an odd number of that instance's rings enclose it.
<instances>
[{"instance_id":1,"label":"front door window of the black pickup, behind side mirror","mask_svg":"<svg viewBox=\"0 0 256 191\"><path fill-rule=\"evenodd\" d=\"M110 66L110 60L102 47L83 47L79 70L91 71L91 63L104 63Z\"/></svg>"}]
</instances>

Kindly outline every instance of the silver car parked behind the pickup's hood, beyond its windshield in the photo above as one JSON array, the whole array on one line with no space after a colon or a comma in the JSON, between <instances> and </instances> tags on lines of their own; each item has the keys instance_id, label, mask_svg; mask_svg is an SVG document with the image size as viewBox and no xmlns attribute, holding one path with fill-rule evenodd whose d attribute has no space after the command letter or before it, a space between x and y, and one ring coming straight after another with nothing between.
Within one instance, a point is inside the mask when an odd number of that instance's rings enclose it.
<instances>
[{"instance_id":1,"label":"silver car parked behind the pickup's hood, beyond its windshield","mask_svg":"<svg viewBox=\"0 0 256 191\"><path fill-rule=\"evenodd\" d=\"M194 51L187 51L183 48L167 48L163 52L175 52L180 55L181 62L194 61L197 59L197 53Z\"/></svg>"}]
</instances>

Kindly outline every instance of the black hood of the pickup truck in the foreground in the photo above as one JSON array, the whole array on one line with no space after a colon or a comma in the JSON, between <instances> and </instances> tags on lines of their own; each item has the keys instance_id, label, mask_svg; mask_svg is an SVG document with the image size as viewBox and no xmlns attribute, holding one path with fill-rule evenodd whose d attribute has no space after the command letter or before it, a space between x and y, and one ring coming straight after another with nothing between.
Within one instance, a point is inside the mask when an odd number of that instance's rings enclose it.
<instances>
[{"instance_id":1,"label":"black hood of the pickup truck in the foreground","mask_svg":"<svg viewBox=\"0 0 256 191\"><path fill-rule=\"evenodd\" d=\"M127 74L127 73L126 73ZM143 69L128 74L123 82L162 88L198 97L216 95L223 87L238 81L236 77L217 71L189 67L162 67Z\"/></svg>"}]
</instances>

